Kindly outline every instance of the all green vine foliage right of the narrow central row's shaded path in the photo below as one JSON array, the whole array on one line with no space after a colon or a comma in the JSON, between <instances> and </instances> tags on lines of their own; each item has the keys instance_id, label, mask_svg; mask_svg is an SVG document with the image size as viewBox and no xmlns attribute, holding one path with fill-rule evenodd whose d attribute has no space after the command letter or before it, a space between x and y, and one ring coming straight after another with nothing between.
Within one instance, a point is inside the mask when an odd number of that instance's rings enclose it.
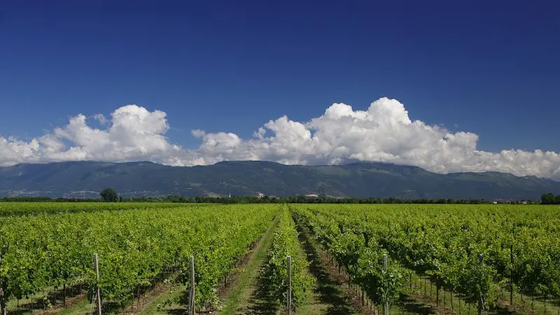
<instances>
[{"instance_id":1,"label":"all green vine foliage right of the narrow central row's shaded path","mask_svg":"<svg viewBox=\"0 0 560 315\"><path fill-rule=\"evenodd\" d=\"M489 309L500 289L560 299L560 207L534 205L292 205L318 243L381 303L400 290L402 268ZM364 248L369 248L365 251ZM379 257L395 265L380 279ZM479 255L484 263L479 261ZM356 259L357 257L357 259ZM356 261L358 262L356 265ZM390 260L391 262L391 260ZM407 274L407 271L404 272ZM391 278L389 278L391 279ZM382 297L375 290L395 288ZM482 297L482 299L481 299Z\"/></svg>"}]
</instances>

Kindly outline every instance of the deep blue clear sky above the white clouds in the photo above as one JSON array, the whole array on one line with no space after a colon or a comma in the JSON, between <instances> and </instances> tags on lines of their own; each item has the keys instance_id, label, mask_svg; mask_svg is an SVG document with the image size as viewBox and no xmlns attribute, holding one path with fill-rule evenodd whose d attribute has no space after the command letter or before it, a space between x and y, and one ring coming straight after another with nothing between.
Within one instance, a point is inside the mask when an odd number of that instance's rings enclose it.
<instances>
[{"instance_id":1,"label":"deep blue clear sky above the white clouds","mask_svg":"<svg viewBox=\"0 0 560 315\"><path fill-rule=\"evenodd\" d=\"M482 151L559 152L560 4L488 2L2 1L0 136L138 104L197 148L389 97Z\"/></svg>"}]
</instances>

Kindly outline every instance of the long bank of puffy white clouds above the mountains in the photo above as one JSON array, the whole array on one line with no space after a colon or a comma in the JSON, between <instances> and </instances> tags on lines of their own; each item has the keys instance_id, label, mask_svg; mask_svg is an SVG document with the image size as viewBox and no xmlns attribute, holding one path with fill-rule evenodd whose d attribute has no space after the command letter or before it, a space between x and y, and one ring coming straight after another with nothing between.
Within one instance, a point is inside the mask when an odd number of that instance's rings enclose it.
<instances>
[{"instance_id":1,"label":"long bank of puffy white clouds above the mountains","mask_svg":"<svg viewBox=\"0 0 560 315\"><path fill-rule=\"evenodd\" d=\"M507 172L560 180L560 154L477 150L478 135L449 132L412 120L396 99L381 98L367 111L335 103L308 122L287 116L269 120L241 139L231 132L193 130L202 144L181 148L165 137L167 114L127 105L92 116L91 127L79 114L43 137L22 141L0 135L0 165L69 160L150 160L165 165L211 165L223 160L267 160L283 164L337 165L351 161L414 165L432 172Z\"/></svg>"}]
</instances>

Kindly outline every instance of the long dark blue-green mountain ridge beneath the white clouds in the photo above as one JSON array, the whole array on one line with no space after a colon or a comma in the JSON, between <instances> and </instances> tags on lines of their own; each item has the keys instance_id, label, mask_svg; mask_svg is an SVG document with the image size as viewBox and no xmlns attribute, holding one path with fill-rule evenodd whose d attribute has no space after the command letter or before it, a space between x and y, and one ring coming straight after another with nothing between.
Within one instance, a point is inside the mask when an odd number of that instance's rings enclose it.
<instances>
[{"instance_id":1,"label":"long dark blue-green mountain ridge beneath the white clouds","mask_svg":"<svg viewBox=\"0 0 560 315\"><path fill-rule=\"evenodd\" d=\"M220 162L169 167L152 162L56 162L0 167L0 196L97 197L111 187L141 195L265 195L318 193L333 197L539 199L560 183L511 174L435 174L385 163L339 166Z\"/></svg>"}]
</instances>

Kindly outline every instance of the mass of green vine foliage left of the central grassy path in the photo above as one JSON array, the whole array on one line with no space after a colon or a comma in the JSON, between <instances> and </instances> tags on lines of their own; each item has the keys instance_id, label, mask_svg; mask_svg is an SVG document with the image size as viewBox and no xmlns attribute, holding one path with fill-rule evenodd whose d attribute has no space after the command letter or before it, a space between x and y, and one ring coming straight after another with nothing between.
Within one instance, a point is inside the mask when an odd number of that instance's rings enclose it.
<instances>
[{"instance_id":1,"label":"mass of green vine foliage left of the central grassy path","mask_svg":"<svg viewBox=\"0 0 560 315\"><path fill-rule=\"evenodd\" d=\"M215 305L216 288L267 228L272 207L187 206L3 218L2 304L43 288L99 285L104 302L123 304L166 269L188 279L197 266L197 305ZM92 271L99 254L99 282Z\"/></svg>"}]
</instances>

